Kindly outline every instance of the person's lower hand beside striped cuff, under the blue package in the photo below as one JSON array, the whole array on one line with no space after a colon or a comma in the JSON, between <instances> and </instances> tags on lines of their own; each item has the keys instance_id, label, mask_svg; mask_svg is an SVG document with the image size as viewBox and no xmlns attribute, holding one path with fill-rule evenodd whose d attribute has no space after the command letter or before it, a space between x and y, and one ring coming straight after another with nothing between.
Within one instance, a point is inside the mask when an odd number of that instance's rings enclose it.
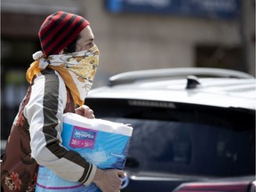
<instances>
[{"instance_id":1,"label":"person's lower hand beside striped cuff, under the blue package","mask_svg":"<svg viewBox=\"0 0 256 192\"><path fill-rule=\"evenodd\" d=\"M102 192L120 192L124 172L116 169L100 170L97 168L96 174L92 182L100 188Z\"/></svg>"}]
</instances>

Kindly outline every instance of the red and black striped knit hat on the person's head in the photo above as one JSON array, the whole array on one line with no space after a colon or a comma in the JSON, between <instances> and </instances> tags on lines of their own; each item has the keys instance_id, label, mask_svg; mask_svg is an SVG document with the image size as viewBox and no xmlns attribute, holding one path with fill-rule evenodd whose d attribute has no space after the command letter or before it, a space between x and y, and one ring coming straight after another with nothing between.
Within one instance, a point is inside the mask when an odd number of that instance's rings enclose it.
<instances>
[{"instance_id":1,"label":"red and black striped knit hat on the person's head","mask_svg":"<svg viewBox=\"0 0 256 192\"><path fill-rule=\"evenodd\" d=\"M73 13L55 12L49 15L38 32L42 51L45 55L58 54L89 24Z\"/></svg>"}]
</instances>

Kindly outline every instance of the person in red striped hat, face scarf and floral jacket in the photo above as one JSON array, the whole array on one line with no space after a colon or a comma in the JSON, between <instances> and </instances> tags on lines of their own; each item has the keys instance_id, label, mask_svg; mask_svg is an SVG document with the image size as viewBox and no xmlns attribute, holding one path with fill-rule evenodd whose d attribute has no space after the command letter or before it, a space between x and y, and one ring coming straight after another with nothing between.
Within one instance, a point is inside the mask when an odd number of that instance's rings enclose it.
<instances>
[{"instance_id":1,"label":"person in red striped hat, face scarf and floral jacket","mask_svg":"<svg viewBox=\"0 0 256 192\"><path fill-rule=\"evenodd\" d=\"M12 124L1 165L4 191L35 191L38 164L65 180L119 191L124 172L101 170L61 145L61 120L74 112L94 118L84 105L99 63L88 20L69 12L49 15L38 32L42 51L27 71L30 85ZM77 108L76 108L77 106Z\"/></svg>"}]
</instances>

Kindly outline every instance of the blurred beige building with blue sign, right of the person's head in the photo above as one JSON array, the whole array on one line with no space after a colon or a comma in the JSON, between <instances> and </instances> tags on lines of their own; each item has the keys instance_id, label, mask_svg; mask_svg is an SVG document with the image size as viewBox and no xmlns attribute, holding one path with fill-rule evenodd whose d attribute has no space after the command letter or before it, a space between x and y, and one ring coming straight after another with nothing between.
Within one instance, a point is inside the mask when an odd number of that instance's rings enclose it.
<instances>
[{"instance_id":1,"label":"blurred beige building with blue sign, right of the person's head","mask_svg":"<svg viewBox=\"0 0 256 192\"><path fill-rule=\"evenodd\" d=\"M254 60L245 62L243 56L246 18L241 17L241 3L108 0L105 6L102 1L87 1L84 10L100 46L100 68L109 73L196 66L233 68L254 75ZM246 9L254 7L249 4ZM246 14L253 19L252 11ZM252 27L254 22L249 23ZM254 34L253 30L247 33Z\"/></svg>"}]
</instances>

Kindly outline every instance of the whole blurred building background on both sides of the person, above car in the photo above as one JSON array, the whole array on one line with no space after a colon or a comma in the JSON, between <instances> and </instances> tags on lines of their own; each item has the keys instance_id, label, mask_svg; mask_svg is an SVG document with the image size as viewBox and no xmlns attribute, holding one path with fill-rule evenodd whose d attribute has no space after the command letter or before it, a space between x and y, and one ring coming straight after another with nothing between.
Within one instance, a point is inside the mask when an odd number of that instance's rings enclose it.
<instances>
[{"instance_id":1,"label":"whole blurred building background on both sides of the person, above car","mask_svg":"<svg viewBox=\"0 0 256 192\"><path fill-rule=\"evenodd\" d=\"M2 0L1 130L10 130L40 50L38 28L59 10L91 22L100 48L95 85L119 72L178 67L233 68L254 75L254 1Z\"/></svg>"}]
</instances>

